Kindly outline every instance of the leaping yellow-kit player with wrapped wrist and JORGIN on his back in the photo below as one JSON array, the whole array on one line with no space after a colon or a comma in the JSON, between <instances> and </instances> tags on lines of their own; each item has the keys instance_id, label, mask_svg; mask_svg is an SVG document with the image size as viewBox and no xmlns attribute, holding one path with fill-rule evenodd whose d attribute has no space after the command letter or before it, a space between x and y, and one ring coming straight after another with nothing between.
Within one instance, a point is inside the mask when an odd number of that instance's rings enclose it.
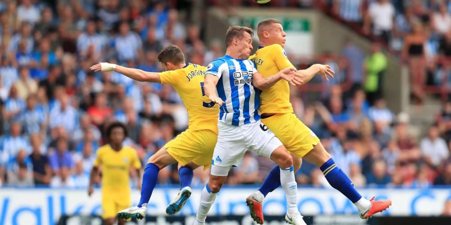
<instances>
[{"instance_id":1,"label":"leaping yellow-kit player with wrapped wrist and JORGIN on his back","mask_svg":"<svg viewBox=\"0 0 451 225\"><path fill-rule=\"evenodd\" d=\"M158 172L169 164L179 163L180 191L166 208L166 213L180 211L191 195L193 169L211 165L213 149L217 140L219 108L205 96L203 82L206 67L185 63L181 49L168 45L158 54L158 61L166 71L146 72L140 69L101 62L91 66L94 71L116 71L138 81L159 82L172 85L180 95L188 111L188 128L166 143L145 166L141 198L137 206L125 208L117 213L120 218L142 219L147 203L157 183Z\"/></svg>"}]
</instances>

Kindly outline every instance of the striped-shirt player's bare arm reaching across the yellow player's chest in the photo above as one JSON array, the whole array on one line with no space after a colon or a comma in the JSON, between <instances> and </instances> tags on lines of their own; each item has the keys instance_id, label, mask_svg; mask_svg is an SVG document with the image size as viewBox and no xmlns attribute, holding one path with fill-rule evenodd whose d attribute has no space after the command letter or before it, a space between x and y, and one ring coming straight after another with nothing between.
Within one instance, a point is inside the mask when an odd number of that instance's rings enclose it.
<instances>
[{"instance_id":1,"label":"striped-shirt player's bare arm reaching across the yellow player's chest","mask_svg":"<svg viewBox=\"0 0 451 225\"><path fill-rule=\"evenodd\" d=\"M278 73L268 78L263 78L263 75L260 72L254 72L252 75L252 84L261 90L274 85L281 79L287 80L294 86L301 85L302 80L300 79L299 74L296 74L295 72L295 67L288 67L280 70Z\"/></svg>"}]
</instances>

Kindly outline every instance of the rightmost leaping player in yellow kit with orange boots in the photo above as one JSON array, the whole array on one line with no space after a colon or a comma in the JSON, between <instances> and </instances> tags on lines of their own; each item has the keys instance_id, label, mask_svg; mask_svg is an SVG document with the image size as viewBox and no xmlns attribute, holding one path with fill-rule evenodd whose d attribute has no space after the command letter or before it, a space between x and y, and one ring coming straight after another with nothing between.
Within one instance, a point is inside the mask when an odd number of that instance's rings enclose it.
<instances>
[{"instance_id":1,"label":"rightmost leaping player in yellow kit with orange boots","mask_svg":"<svg viewBox=\"0 0 451 225\"><path fill-rule=\"evenodd\" d=\"M279 20L272 18L262 20L258 24L257 35L260 39L260 47L250 59L255 62L257 69L264 77L275 74L284 68L293 67L283 48L287 34ZM317 73L326 79L333 77L334 73L329 65L322 64L314 64L297 72L303 74L303 84L307 83ZM294 114L290 103L290 87L287 81L280 80L274 86L263 90L260 98L262 122L276 134L287 147L287 150L292 153L293 161L297 162L295 169L299 169L300 158L305 158L320 167L331 186L355 204L361 218L369 218L374 213L383 211L391 205L391 200L373 201L374 198L368 200L354 188L351 180L335 164L315 133ZM296 158L298 159L296 160ZM259 190L246 199L251 216L255 221L261 221L260 223L263 224L263 200L269 192L279 186L279 167L276 166L268 174Z\"/></svg>"}]
</instances>

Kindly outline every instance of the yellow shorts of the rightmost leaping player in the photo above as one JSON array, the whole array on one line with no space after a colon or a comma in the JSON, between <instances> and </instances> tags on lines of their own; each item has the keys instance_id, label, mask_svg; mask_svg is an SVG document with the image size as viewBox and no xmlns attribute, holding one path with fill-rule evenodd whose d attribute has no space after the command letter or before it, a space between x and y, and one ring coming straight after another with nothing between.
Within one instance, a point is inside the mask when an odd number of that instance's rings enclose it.
<instances>
[{"instance_id":1,"label":"yellow shorts of the rightmost leaping player","mask_svg":"<svg viewBox=\"0 0 451 225\"><path fill-rule=\"evenodd\" d=\"M294 113L275 114L262 122L282 141L288 151L304 157L320 142L316 134Z\"/></svg>"}]
</instances>

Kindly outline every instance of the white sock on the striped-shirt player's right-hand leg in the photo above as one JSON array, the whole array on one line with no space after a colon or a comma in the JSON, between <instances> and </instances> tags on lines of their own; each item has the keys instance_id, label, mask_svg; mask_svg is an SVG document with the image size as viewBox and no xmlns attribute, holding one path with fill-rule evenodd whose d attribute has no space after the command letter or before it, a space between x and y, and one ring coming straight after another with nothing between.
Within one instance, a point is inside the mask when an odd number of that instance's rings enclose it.
<instances>
[{"instance_id":1,"label":"white sock on the striped-shirt player's right-hand leg","mask_svg":"<svg viewBox=\"0 0 451 225\"><path fill-rule=\"evenodd\" d=\"M280 168L280 183L287 197L288 213L298 212L298 184L294 176L293 166L286 169Z\"/></svg>"}]
</instances>

